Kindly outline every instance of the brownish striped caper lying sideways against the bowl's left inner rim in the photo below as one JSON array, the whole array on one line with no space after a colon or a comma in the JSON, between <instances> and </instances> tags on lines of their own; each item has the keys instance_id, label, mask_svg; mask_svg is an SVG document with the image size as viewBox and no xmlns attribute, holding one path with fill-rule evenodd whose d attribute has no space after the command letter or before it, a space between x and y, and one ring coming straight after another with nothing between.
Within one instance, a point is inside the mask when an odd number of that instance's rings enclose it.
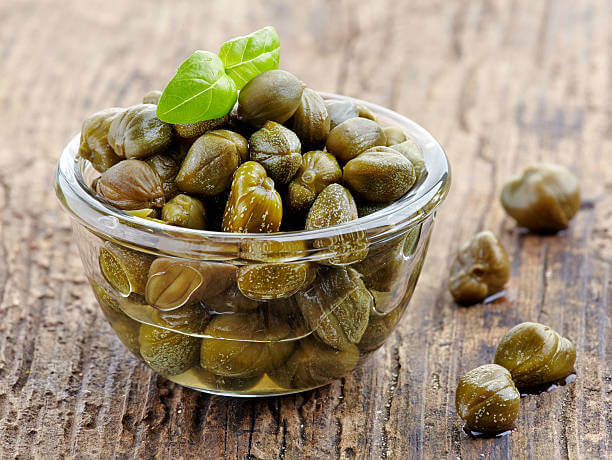
<instances>
[{"instance_id":1,"label":"brownish striped caper lying sideways against the bowl's left inner rim","mask_svg":"<svg viewBox=\"0 0 612 460\"><path fill-rule=\"evenodd\" d=\"M161 208L164 189L153 169L140 160L123 160L102 173L95 184L100 198L119 209Z\"/></svg>"}]
</instances>

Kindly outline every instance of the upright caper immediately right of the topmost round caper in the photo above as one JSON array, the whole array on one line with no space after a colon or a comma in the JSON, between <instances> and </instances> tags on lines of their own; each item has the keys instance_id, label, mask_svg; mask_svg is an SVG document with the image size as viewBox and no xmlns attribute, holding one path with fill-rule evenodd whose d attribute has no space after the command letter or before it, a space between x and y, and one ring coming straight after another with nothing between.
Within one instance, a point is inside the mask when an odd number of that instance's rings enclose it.
<instances>
[{"instance_id":1,"label":"upright caper immediately right of the topmost round caper","mask_svg":"<svg viewBox=\"0 0 612 460\"><path fill-rule=\"evenodd\" d=\"M325 145L329 126L329 114L323 98L316 91L304 88L300 106L291 119L291 127L304 144L320 147Z\"/></svg>"}]
</instances>

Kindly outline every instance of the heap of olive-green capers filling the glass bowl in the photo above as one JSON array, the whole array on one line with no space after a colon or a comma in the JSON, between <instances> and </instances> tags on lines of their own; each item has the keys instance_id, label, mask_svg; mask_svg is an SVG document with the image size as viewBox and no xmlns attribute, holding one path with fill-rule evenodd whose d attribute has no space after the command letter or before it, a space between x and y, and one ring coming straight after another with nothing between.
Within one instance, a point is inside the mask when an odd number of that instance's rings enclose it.
<instances>
[{"instance_id":1,"label":"heap of olive-green capers filling the glass bowl","mask_svg":"<svg viewBox=\"0 0 612 460\"><path fill-rule=\"evenodd\" d=\"M289 72L254 77L214 120L165 123L159 97L95 113L81 133L79 155L101 173L94 193L136 217L233 233L322 229L389 205L427 174L401 129L358 103L323 100ZM242 391L267 374L307 389L345 375L389 336L405 305L381 312L376 299L404 278L418 240L415 228L371 246L356 230L315 240L328 254L317 262L305 260L305 241L245 240L240 261L225 262L107 241L103 282L91 282L119 338L168 378Z\"/></svg>"}]
</instances>

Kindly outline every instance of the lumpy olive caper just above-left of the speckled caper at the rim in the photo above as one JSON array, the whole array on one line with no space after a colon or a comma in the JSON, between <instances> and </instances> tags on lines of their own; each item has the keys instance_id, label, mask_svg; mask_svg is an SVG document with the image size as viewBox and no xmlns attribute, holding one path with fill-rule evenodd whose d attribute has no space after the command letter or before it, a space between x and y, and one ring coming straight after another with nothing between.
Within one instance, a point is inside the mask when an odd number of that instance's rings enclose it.
<instances>
[{"instance_id":1,"label":"lumpy olive caper just above-left of the speckled caper at the rim","mask_svg":"<svg viewBox=\"0 0 612 460\"><path fill-rule=\"evenodd\" d=\"M325 187L340 179L342 170L336 157L321 150L306 152L297 175L289 184L287 205L293 212L307 211Z\"/></svg>"}]
</instances>

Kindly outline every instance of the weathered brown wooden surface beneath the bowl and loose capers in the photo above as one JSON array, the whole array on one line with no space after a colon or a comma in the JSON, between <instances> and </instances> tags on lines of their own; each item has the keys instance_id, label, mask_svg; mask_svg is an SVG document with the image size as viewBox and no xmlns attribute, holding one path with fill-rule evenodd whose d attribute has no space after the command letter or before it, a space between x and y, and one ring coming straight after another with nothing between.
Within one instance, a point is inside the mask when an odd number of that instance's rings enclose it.
<instances>
[{"instance_id":1,"label":"weathered brown wooden surface beneath the bowl and loose capers","mask_svg":"<svg viewBox=\"0 0 612 460\"><path fill-rule=\"evenodd\" d=\"M611 21L608 0L0 2L1 456L609 458ZM194 49L267 24L284 68L423 124L454 177L389 343L326 388L240 400L168 383L114 338L51 184L87 114L136 103ZM510 174L543 160L583 184L554 237L517 232L498 203ZM484 228L512 257L508 296L459 308L447 267ZM578 379L523 399L511 436L469 439L456 382L527 320L574 340Z\"/></svg>"}]
</instances>

